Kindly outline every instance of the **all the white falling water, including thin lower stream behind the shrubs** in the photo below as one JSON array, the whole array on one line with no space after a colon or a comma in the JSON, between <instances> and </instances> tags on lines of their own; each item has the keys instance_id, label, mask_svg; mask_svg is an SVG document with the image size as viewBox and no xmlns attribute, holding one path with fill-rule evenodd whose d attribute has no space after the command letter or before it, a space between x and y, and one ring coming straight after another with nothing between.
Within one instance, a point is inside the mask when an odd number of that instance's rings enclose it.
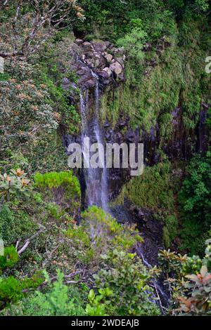
<instances>
[{"instance_id":1,"label":"all the white falling water, including thin lower stream behind the shrubs","mask_svg":"<svg viewBox=\"0 0 211 330\"><path fill-rule=\"evenodd\" d=\"M91 69L89 68L89 70ZM89 89L87 89L85 93L81 93L80 95L82 120L82 152L84 163L86 164L89 164L90 159L88 159L87 157L87 152L84 146L84 138L90 139L90 145L92 143L104 145L103 131L101 130L101 126L99 124L100 89L98 84L98 76L92 70L91 75L95 81L94 102L91 98L91 96L93 95L89 94ZM90 156L92 154L93 153L90 152ZM83 167L84 180L87 187L85 204L87 204L87 206L100 206L107 213L111 213L111 210L108 207L108 170L106 169L104 152L102 154L99 149L98 164L103 164L105 166L103 166L103 168L97 167L96 169L93 169L90 166L87 166L87 168ZM117 213L119 214L119 211ZM112 214L115 215L114 210L112 210ZM129 214L127 214L127 216L129 216ZM121 220L122 219L120 219L120 222ZM137 249L137 253L141 257L143 265L145 265L146 268L151 269L152 265L148 262L148 260L146 260L146 257L144 256L141 247ZM158 301L162 314L165 314L165 307L168 305L169 297L167 296L167 293L165 293L165 289L162 286L162 282L160 282L159 280L153 281L151 286L154 290L154 296L152 299L155 303Z\"/></svg>"}]
</instances>

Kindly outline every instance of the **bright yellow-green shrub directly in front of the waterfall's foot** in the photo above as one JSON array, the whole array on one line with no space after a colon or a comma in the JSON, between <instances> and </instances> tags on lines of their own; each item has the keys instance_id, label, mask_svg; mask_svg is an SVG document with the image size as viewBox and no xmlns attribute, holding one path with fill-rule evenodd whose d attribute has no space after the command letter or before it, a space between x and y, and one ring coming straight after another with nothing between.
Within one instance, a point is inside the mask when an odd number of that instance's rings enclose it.
<instances>
[{"instance_id":1,"label":"bright yellow-green shrub directly in front of the waterfall's foot","mask_svg":"<svg viewBox=\"0 0 211 330\"><path fill-rule=\"evenodd\" d=\"M80 225L73 225L65 232L75 246L77 257L92 266L97 266L101 253L108 249L129 250L142 242L133 227L117 223L115 218L97 206L90 206L82 213Z\"/></svg>"}]
</instances>

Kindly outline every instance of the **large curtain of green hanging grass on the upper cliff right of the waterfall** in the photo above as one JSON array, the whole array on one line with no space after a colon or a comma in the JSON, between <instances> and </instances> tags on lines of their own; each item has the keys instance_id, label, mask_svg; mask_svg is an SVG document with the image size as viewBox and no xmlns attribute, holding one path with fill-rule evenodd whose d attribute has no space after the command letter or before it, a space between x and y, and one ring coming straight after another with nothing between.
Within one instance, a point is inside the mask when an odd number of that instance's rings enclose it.
<instances>
[{"instance_id":1,"label":"large curtain of green hanging grass on the upper cliff right of the waterfall","mask_svg":"<svg viewBox=\"0 0 211 330\"><path fill-rule=\"evenodd\" d=\"M158 56L155 49L143 60L128 60L126 82L102 98L101 120L106 118L115 126L120 112L129 114L133 128L149 131L163 114L162 133L170 136L170 114L183 107L184 125L193 128L202 102L210 99L210 75L205 74L205 58L210 45L206 22L202 18L184 18L177 34L170 37L171 46ZM148 66L155 60L155 67ZM146 74L146 72L148 72ZM110 101L113 100L113 103ZM164 121L167 119L167 123Z\"/></svg>"}]
</instances>

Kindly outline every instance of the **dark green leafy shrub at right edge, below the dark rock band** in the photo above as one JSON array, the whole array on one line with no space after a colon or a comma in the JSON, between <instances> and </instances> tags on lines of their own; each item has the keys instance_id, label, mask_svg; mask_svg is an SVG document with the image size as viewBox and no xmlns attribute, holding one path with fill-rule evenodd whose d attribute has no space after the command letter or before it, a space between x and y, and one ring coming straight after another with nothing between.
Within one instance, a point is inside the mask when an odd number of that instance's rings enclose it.
<instances>
[{"instance_id":1,"label":"dark green leafy shrub at right edge, below the dark rock band","mask_svg":"<svg viewBox=\"0 0 211 330\"><path fill-rule=\"evenodd\" d=\"M179 193L182 212L181 249L203 253L201 244L211 225L211 154L196 154L187 167L187 175ZM206 234L207 233L207 234Z\"/></svg>"}]
</instances>

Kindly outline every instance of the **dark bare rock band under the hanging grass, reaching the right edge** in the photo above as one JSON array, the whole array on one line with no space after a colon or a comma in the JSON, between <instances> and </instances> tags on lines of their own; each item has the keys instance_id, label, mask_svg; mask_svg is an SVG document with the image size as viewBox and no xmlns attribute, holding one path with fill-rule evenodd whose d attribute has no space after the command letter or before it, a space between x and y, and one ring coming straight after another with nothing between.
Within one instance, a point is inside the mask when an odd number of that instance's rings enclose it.
<instances>
[{"instance_id":1,"label":"dark bare rock band under the hanging grass, reaching the right edge","mask_svg":"<svg viewBox=\"0 0 211 330\"><path fill-rule=\"evenodd\" d=\"M203 103L198 114L196 128L186 128L183 121L183 109L179 105L172 111L172 133L163 140L160 137L159 118L158 123L150 132L142 132L144 144L144 158L147 164L157 164L160 160L159 148L162 149L170 161L191 159L193 153L205 154L210 145L210 133L206 120L209 105ZM194 121L194 119L193 119Z\"/></svg>"}]
</instances>

